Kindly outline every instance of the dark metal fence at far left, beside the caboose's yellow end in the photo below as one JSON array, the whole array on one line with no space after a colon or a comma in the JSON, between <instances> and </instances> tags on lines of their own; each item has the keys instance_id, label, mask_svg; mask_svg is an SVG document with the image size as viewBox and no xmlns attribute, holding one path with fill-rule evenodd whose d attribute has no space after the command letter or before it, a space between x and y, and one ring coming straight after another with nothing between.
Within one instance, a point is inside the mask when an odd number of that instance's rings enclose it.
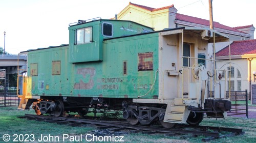
<instances>
[{"instance_id":1,"label":"dark metal fence at far left, beside the caboose's yellow end","mask_svg":"<svg viewBox=\"0 0 256 143\"><path fill-rule=\"evenodd\" d=\"M16 90L0 90L0 107L18 106L19 98Z\"/></svg>"}]
</instances>

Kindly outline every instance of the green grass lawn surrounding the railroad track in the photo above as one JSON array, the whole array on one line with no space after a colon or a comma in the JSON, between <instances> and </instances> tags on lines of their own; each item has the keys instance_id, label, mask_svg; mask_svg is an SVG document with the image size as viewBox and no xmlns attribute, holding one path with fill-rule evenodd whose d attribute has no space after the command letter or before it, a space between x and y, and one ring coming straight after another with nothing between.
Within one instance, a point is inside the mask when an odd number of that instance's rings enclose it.
<instances>
[{"instance_id":1,"label":"green grass lawn surrounding the railroad track","mask_svg":"<svg viewBox=\"0 0 256 143\"><path fill-rule=\"evenodd\" d=\"M69 141L70 138L63 141L63 134L68 134L69 137L82 134L82 141L87 142L86 135L93 134L91 131L96 130L93 127L70 127L65 125L58 125L56 123L46 123L38 122L34 120L26 120L17 118L17 116L24 116L25 113L33 113L34 111L28 110L18 110L16 107L0 107L0 142L3 141L3 135L9 134L11 136L11 141L14 139L14 134L28 134L34 135L35 140L32 142L53 142L53 141L39 141L40 136L58 136L59 141L56 142L72 142ZM228 119L207 119L205 118L201 125L205 126L216 126L216 127L233 127L233 128L242 128L245 131L244 135L226 137L222 139L211 140L210 142L255 142L256 141L256 119L243 119L243 118L233 118L229 117ZM205 138L203 136L199 137L188 137L186 139L181 136L164 136L163 134L143 134L143 133L131 133L126 132L112 132L110 134L105 134L108 136L124 136L122 140L124 142L202 142L201 139ZM98 135L99 136L99 135ZM22 137L22 136L20 136ZM31 139L33 136L24 136ZM67 137L67 136L65 136ZM78 137L78 136L77 136ZM25 139L24 138L24 139ZM22 139L22 138L20 138ZM87 138L92 139L92 138ZM77 141L77 142L79 142ZM74 141L73 141L74 142ZM102 141L98 141L102 142Z\"/></svg>"}]
</instances>

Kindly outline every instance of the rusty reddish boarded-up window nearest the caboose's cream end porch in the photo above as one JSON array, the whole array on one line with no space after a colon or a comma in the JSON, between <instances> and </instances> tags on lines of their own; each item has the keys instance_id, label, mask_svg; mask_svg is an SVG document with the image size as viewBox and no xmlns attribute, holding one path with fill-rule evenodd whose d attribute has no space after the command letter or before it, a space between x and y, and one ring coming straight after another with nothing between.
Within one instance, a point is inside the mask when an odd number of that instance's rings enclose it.
<instances>
[{"instance_id":1,"label":"rusty reddish boarded-up window nearest the caboose's cream end porch","mask_svg":"<svg viewBox=\"0 0 256 143\"><path fill-rule=\"evenodd\" d=\"M153 70L153 52L138 53L138 71Z\"/></svg>"}]
</instances>

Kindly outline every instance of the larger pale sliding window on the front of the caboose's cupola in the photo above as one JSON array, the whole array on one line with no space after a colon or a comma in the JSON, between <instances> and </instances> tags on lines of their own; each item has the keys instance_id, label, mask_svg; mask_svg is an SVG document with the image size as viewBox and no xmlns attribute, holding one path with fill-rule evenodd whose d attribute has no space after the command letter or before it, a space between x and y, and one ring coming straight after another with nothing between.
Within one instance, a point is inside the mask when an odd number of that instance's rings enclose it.
<instances>
[{"instance_id":1,"label":"larger pale sliding window on the front of the caboose's cupola","mask_svg":"<svg viewBox=\"0 0 256 143\"><path fill-rule=\"evenodd\" d=\"M90 43L93 40L92 27L80 28L76 30L76 44Z\"/></svg>"}]
</instances>

